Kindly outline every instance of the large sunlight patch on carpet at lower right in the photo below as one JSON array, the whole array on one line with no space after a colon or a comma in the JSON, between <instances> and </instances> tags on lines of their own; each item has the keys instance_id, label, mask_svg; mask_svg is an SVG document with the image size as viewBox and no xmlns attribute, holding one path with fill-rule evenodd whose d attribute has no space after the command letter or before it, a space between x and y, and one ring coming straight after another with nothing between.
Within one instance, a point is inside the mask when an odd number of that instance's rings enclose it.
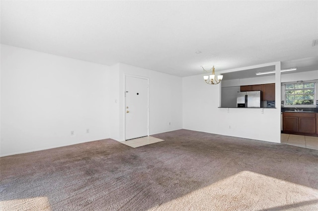
<instances>
[{"instance_id":1,"label":"large sunlight patch on carpet at lower right","mask_svg":"<svg viewBox=\"0 0 318 211\"><path fill-rule=\"evenodd\" d=\"M241 171L150 210L318 209L318 190L251 171Z\"/></svg>"}]
</instances>

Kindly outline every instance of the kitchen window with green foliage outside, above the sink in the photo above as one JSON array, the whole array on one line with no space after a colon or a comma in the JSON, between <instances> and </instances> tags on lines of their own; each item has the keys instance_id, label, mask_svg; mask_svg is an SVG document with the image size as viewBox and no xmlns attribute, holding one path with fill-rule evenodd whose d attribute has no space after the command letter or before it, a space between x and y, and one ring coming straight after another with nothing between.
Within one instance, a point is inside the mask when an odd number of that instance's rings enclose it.
<instances>
[{"instance_id":1,"label":"kitchen window with green foliage outside, above the sink","mask_svg":"<svg viewBox=\"0 0 318 211\"><path fill-rule=\"evenodd\" d=\"M315 105L315 82L285 84L285 105Z\"/></svg>"}]
</instances>

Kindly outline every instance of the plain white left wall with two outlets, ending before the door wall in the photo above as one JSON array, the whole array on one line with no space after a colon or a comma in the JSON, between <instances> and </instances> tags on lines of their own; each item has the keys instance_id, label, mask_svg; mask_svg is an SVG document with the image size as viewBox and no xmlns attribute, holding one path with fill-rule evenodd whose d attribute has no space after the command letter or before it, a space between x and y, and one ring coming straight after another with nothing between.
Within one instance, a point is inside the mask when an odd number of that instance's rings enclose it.
<instances>
[{"instance_id":1,"label":"plain white left wall with two outlets, ending before the door wall","mask_svg":"<svg viewBox=\"0 0 318 211\"><path fill-rule=\"evenodd\" d=\"M109 138L109 76L106 65L1 45L0 156Z\"/></svg>"}]
</instances>

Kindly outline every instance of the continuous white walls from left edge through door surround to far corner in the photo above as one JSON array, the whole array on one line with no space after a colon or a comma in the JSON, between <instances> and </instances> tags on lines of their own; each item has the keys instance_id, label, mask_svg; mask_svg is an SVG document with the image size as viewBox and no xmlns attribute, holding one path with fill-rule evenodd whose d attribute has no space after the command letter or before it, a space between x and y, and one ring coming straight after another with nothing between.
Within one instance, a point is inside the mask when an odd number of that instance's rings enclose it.
<instances>
[{"instance_id":1,"label":"continuous white walls from left edge through door surround to far corner","mask_svg":"<svg viewBox=\"0 0 318 211\"><path fill-rule=\"evenodd\" d=\"M125 74L150 78L150 135L182 128L180 77L1 45L0 156L124 141Z\"/></svg>"}]
</instances>

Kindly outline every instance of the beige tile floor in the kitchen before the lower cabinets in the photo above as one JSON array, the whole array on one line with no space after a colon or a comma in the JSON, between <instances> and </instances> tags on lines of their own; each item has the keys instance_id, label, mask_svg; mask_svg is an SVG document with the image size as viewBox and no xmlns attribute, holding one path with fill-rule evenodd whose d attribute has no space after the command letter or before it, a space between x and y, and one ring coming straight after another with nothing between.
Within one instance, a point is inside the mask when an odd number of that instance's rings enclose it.
<instances>
[{"instance_id":1,"label":"beige tile floor in the kitchen before the lower cabinets","mask_svg":"<svg viewBox=\"0 0 318 211\"><path fill-rule=\"evenodd\" d=\"M281 133L280 141L282 144L318 150L318 137L315 136L301 136Z\"/></svg>"}]
</instances>

